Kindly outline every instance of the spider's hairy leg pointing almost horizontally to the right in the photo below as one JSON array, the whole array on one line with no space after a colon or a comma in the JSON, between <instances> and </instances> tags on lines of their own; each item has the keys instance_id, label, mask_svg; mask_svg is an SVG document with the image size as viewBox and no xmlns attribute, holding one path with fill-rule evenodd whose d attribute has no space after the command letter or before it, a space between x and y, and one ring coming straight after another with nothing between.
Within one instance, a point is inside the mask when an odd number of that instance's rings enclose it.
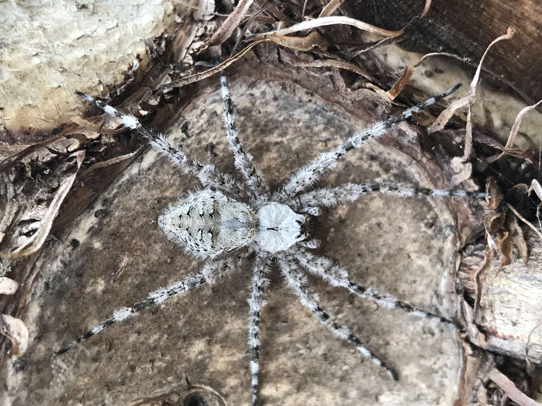
<instances>
[{"instance_id":1,"label":"spider's hairy leg pointing almost horizontally to the right","mask_svg":"<svg viewBox=\"0 0 542 406\"><path fill-rule=\"evenodd\" d=\"M386 182L367 182L365 184L346 184L338 187L324 187L314 189L313 191L303 193L299 197L293 199L289 206L301 211L306 210L305 207L318 206L335 206L338 204L353 202L360 195L382 192L396 194L401 197L411 196L436 196L436 197L463 197L483 199L486 197L485 192L468 192L462 190L449 189L429 189L425 187L417 187L408 184L389 184Z\"/></svg>"}]
</instances>

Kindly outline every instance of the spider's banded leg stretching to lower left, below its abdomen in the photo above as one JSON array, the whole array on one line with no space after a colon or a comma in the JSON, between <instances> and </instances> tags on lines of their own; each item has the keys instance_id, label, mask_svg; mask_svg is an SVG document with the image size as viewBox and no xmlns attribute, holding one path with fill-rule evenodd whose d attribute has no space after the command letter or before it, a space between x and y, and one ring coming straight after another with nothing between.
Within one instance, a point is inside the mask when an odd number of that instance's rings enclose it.
<instances>
[{"instance_id":1,"label":"spider's banded leg stretching to lower left, below its abdomen","mask_svg":"<svg viewBox=\"0 0 542 406\"><path fill-rule=\"evenodd\" d=\"M156 291L150 292L145 299L134 303L131 307L121 307L121 309L113 312L113 315L104 322L98 324L91 330L82 333L82 335L76 338L73 342L63 346L59 351L56 351L55 354L63 354L80 342L91 338L114 323L126 320L133 313L143 310L146 307L153 304L162 304L167 299L176 296L179 293L184 293L189 289L197 289L204 283L208 283L210 285L215 284L221 277L229 275L230 273L234 272L235 269L236 261L232 257L217 261L209 261L198 273L189 274L184 277L183 280L175 281L167 287L161 287Z\"/></svg>"}]
</instances>

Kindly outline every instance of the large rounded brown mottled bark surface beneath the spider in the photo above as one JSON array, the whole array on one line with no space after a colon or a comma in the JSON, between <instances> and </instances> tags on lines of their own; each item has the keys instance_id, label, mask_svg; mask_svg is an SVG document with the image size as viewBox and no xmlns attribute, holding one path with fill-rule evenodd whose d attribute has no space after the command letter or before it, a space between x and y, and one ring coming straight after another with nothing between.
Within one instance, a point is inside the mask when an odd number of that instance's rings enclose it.
<instances>
[{"instance_id":1,"label":"large rounded brown mottled bark surface beneath the spider","mask_svg":"<svg viewBox=\"0 0 542 406\"><path fill-rule=\"evenodd\" d=\"M242 142L274 185L301 162L367 124L288 82L239 78L231 83L231 94ZM191 156L231 172L220 113L214 86L198 94L185 111L188 137L180 132L179 121L171 140ZM385 140L394 137L396 146L416 143L400 130ZM371 142L347 155L325 183L378 178L431 186L424 162ZM248 271L142 312L64 356L52 355L118 307L201 266L168 242L153 222L168 202L194 187L194 179L146 150L66 232L55 236L24 317L31 333L29 350L8 365L8 404L167 404L152 403L164 398L146 400L172 391L176 394L170 398L179 402L173 404L183 404L185 375L191 383L220 392L228 404L248 403ZM326 209L311 227L322 239L321 252L339 260L353 279L423 309L447 316L453 312L446 298L453 289L459 237L443 200L370 195L353 205ZM275 270L266 295L269 304L262 311L265 404L451 403L460 366L454 331L377 309L311 281L321 292L322 305L340 323L351 324L399 372L400 380L390 381L324 330ZM208 390L200 392L209 395Z\"/></svg>"}]
</instances>

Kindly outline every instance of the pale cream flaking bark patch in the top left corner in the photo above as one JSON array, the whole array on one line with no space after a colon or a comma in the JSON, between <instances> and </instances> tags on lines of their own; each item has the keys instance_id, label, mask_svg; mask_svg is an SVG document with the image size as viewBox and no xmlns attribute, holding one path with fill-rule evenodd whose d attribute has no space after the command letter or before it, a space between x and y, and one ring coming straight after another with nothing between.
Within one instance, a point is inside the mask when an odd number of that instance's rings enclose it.
<instances>
[{"instance_id":1,"label":"pale cream flaking bark patch in the top left corner","mask_svg":"<svg viewBox=\"0 0 542 406\"><path fill-rule=\"evenodd\" d=\"M160 35L173 2L3 2L0 125L8 132L53 130L78 107L74 88L113 84L145 38ZM137 21L137 24L133 24Z\"/></svg>"}]
</instances>

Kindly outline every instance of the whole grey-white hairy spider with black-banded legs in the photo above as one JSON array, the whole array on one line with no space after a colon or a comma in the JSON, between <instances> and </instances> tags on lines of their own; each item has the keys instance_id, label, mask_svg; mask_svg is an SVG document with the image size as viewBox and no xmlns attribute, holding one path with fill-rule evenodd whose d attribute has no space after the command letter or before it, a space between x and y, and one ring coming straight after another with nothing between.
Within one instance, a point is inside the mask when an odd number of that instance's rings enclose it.
<instances>
[{"instance_id":1,"label":"whole grey-white hairy spider with black-banded legs","mask_svg":"<svg viewBox=\"0 0 542 406\"><path fill-rule=\"evenodd\" d=\"M183 248L186 254L207 262L199 272L188 274L184 279L175 281L167 287L151 291L145 299L130 307L122 307L114 311L111 317L83 333L56 354L61 355L80 342L114 323L124 321L133 313L146 307L162 304L177 294L197 289L206 283L216 284L222 277L228 276L241 267L244 259L248 259L251 261L253 271L252 293L248 298L250 307L248 344L251 352L251 404L253 406L258 403L260 310L266 304L263 299L264 289L269 285L268 276L274 263L278 265L282 277L299 297L302 305L311 310L314 316L336 336L355 346L363 356L380 366L390 378L397 380L395 371L362 344L347 326L340 326L330 313L322 309L318 294L308 286L307 272L321 277L333 286L344 287L350 293L386 308L401 309L414 316L438 320L459 330L461 326L453 320L418 309L388 293L380 293L349 279L343 267L311 252L320 245L320 242L309 235L307 221L313 216L318 216L322 206L332 207L353 202L360 195L372 192L392 193L399 196L457 196L477 199L485 198L485 193L428 189L384 182L349 183L325 188L313 188L313 185L335 168L341 156L352 149L362 147L373 138L382 136L388 128L411 117L413 113L419 113L433 106L459 87L458 84L441 95L431 97L418 106L405 109L397 116L376 122L362 132L352 135L335 149L321 153L318 158L299 168L290 176L286 184L275 192L270 191L262 172L252 162L253 157L244 152L241 146L235 127L234 106L224 73L221 74L223 121L229 147L234 154L235 167L241 172L243 183L235 180L230 174L219 171L214 165L203 165L189 158L182 150L171 146L164 134L154 133L141 125L135 116L122 114L106 103L76 91L76 95L95 103L107 114L118 117L126 128L138 130L159 153L178 163L185 172L198 177L203 188L189 192L171 204L160 215L158 225L167 238Z\"/></svg>"}]
</instances>

